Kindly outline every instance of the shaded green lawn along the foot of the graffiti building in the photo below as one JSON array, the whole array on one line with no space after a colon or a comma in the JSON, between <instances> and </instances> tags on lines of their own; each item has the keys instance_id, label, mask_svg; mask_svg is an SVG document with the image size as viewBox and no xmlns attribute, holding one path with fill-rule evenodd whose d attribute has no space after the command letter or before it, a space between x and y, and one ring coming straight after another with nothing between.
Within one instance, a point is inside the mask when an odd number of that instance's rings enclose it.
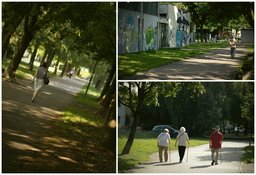
<instances>
[{"instance_id":1,"label":"shaded green lawn along the foot of the graffiti building","mask_svg":"<svg viewBox=\"0 0 256 175\"><path fill-rule=\"evenodd\" d=\"M185 49L218 49L228 43L189 44ZM160 49L128 54L118 54L118 79L132 76L153 68L158 68L176 61L201 55L207 50Z\"/></svg>"}]
</instances>

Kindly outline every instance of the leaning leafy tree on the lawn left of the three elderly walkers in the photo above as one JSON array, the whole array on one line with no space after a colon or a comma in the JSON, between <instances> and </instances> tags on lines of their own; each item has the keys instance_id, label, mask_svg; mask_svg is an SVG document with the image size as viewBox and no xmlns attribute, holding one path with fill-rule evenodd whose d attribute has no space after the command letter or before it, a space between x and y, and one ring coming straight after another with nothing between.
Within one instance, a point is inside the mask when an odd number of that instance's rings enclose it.
<instances>
[{"instance_id":1,"label":"leaning leafy tree on the lawn left of the three elderly walkers","mask_svg":"<svg viewBox=\"0 0 256 175\"><path fill-rule=\"evenodd\" d=\"M205 91L200 82L118 82L118 97L123 98L125 103L118 100L121 104L131 109L134 117L130 135L121 155L129 154L130 152L142 111L142 104L149 105L152 103L155 106L159 105L157 99L159 94L164 94L164 97L171 95L175 97L177 91L181 90L180 84L183 84L191 91L191 97Z\"/></svg>"}]
</instances>

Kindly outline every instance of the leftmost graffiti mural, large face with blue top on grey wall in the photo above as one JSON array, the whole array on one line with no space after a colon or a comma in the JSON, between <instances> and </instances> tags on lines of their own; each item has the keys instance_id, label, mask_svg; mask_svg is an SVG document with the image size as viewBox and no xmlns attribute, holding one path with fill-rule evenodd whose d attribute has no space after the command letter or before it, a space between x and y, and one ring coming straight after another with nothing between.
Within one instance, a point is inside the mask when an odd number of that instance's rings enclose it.
<instances>
[{"instance_id":1,"label":"leftmost graffiti mural, large face with blue top on grey wall","mask_svg":"<svg viewBox=\"0 0 256 175\"><path fill-rule=\"evenodd\" d=\"M118 53L138 52L138 29L133 16L129 14L119 26Z\"/></svg>"}]
</instances>

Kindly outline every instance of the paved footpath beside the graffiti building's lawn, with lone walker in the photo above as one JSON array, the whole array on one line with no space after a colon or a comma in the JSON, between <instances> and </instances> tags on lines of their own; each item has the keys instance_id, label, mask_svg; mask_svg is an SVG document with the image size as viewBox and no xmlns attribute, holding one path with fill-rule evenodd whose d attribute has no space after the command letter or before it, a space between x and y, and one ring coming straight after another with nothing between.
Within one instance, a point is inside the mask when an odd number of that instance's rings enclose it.
<instances>
[{"instance_id":1,"label":"paved footpath beside the graffiti building's lawn, with lone walker","mask_svg":"<svg viewBox=\"0 0 256 175\"><path fill-rule=\"evenodd\" d=\"M237 43L235 59L227 46L120 80L230 80L249 46Z\"/></svg>"}]
</instances>

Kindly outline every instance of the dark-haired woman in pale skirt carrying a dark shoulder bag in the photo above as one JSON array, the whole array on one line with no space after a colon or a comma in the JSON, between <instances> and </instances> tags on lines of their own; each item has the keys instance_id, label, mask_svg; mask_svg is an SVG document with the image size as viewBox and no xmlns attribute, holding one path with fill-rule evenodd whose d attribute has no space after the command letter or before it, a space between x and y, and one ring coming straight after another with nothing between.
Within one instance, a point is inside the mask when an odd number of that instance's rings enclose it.
<instances>
[{"instance_id":1,"label":"dark-haired woman in pale skirt carrying a dark shoulder bag","mask_svg":"<svg viewBox=\"0 0 256 175\"><path fill-rule=\"evenodd\" d=\"M31 99L32 102L36 99L36 96L38 92L43 92L44 91L44 76L47 74L47 77L49 78L49 71L46 69L47 63L43 62L41 68L37 68L36 73L34 75L33 80L31 81L31 84L33 84L35 78L35 85L34 85L34 93L33 93L33 98Z\"/></svg>"}]
</instances>

